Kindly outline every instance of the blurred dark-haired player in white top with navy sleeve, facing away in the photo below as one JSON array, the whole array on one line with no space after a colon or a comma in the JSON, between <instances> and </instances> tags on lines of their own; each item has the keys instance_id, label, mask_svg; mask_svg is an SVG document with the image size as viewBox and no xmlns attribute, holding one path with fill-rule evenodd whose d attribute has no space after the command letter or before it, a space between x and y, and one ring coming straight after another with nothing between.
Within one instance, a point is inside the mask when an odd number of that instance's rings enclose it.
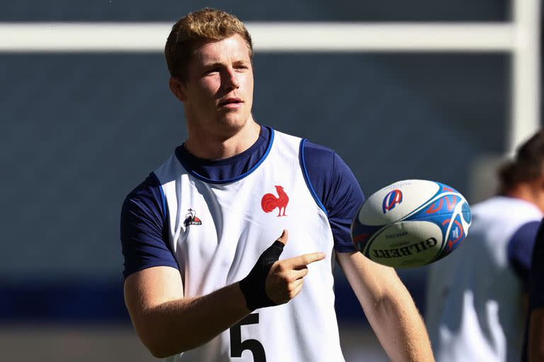
<instances>
[{"instance_id":1,"label":"blurred dark-haired player in white top with navy sleeve, facing away","mask_svg":"<svg viewBox=\"0 0 544 362\"><path fill-rule=\"evenodd\" d=\"M459 250L429 267L425 320L436 361L519 361L543 170L539 131L499 169L498 194L472 206Z\"/></svg>"}]
</instances>

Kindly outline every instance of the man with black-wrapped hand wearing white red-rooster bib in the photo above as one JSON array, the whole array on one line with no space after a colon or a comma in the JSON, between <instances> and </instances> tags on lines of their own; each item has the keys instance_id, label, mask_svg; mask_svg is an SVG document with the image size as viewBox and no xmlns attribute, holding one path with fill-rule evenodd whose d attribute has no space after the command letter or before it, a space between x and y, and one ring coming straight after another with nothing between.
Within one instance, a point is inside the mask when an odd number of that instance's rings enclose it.
<instances>
[{"instance_id":1,"label":"man with black-wrapped hand wearing white red-rooster bib","mask_svg":"<svg viewBox=\"0 0 544 362\"><path fill-rule=\"evenodd\" d=\"M125 303L149 351L169 361L344 361L336 259L392 361L433 361L395 270L351 243L363 202L351 170L334 151L254 121L244 25L209 8L190 13L165 53L188 139L121 213ZM280 95L268 101L281 106Z\"/></svg>"}]
</instances>

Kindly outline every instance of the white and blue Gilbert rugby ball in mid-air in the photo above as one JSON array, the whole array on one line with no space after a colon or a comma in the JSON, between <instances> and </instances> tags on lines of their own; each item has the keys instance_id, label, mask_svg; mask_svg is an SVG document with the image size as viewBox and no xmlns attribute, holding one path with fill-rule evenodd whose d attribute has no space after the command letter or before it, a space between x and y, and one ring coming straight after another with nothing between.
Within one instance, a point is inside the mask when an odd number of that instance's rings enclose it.
<instances>
[{"instance_id":1,"label":"white and blue Gilbert rugby ball in mid-air","mask_svg":"<svg viewBox=\"0 0 544 362\"><path fill-rule=\"evenodd\" d=\"M374 262L420 267L453 252L470 223L460 192L440 182L402 180L365 200L351 223L351 238Z\"/></svg>"}]
</instances>

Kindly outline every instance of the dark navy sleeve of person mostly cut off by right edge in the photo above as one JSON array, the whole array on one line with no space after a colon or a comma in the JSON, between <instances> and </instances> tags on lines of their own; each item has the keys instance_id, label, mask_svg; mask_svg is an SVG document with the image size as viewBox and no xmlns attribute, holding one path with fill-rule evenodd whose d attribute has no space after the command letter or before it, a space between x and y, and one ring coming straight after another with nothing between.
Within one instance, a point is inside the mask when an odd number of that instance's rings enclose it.
<instances>
[{"instance_id":1,"label":"dark navy sleeve of person mostly cut off by right edge","mask_svg":"<svg viewBox=\"0 0 544 362\"><path fill-rule=\"evenodd\" d=\"M529 305L544 308L544 221L540 223L529 269Z\"/></svg>"}]
</instances>

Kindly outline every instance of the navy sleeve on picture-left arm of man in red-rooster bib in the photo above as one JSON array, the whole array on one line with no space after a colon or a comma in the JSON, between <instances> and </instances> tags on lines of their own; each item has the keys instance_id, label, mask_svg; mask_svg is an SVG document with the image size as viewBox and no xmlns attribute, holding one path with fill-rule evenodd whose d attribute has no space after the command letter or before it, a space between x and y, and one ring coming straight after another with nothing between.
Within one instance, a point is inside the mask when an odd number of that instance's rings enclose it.
<instances>
[{"instance_id":1,"label":"navy sleeve on picture-left arm of man in red-rooster bib","mask_svg":"<svg viewBox=\"0 0 544 362\"><path fill-rule=\"evenodd\" d=\"M121 209L121 245L125 257L125 278L150 267L178 268L167 232L166 204L154 174L138 185Z\"/></svg>"}]
</instances>

